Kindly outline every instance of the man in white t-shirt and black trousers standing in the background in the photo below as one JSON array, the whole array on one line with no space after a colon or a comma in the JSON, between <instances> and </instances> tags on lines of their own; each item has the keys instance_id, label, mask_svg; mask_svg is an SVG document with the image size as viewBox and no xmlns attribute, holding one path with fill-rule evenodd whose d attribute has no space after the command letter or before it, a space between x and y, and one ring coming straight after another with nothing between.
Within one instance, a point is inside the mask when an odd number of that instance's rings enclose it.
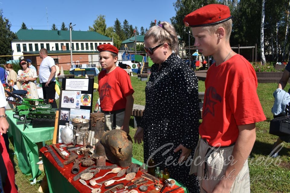
<instances>
[{"instance_id":1,"label":"man in white t-shirt and black trousers standing in the background","mask_svg":"<svg viewBox=\"0 0 290 193\"><path fill-rule=\"evenodd\" d=\"M43 98L47 99L52 108L57 108L55 101L55 72L56 67L53 58L48 56L47 49L42 48L39 51L39 57L42 60L39 68L39 83L42 84Z\"/></svg>"}]
</instances>

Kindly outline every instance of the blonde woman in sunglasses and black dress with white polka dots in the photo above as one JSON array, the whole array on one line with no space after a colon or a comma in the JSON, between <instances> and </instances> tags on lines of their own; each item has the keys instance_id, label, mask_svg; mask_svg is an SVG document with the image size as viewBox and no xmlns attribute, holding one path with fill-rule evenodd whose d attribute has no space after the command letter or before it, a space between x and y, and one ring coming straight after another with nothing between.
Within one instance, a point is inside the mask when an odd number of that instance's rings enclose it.
<instances>
[{"instance_id":1,"label":"blonde woman in sunglasses and black dress with white polka dots","mask_svg":"<svg viewBox=\"0 0 290 193\"><path fill-rule=\"evenodd\" d=\"M151 27L144 43L154 64L135 143L144 140L145 163L152 157L160 169L168 168L170 177L185 184L189 192L199 192L195 176L188 175L198 142L198 79L175 54L179 53L178 38L168 22Z\"/></svg>"}]
</instances>

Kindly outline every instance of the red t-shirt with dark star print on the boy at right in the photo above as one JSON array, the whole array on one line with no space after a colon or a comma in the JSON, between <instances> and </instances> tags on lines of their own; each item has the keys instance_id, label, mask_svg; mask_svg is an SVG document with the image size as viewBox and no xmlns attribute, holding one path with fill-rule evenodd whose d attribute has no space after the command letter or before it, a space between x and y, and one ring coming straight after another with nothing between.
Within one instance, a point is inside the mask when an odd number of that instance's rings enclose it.
<instances>
[{"instance_id":1,"label":"red t-shirt with dark star print on the boy at right","mask_svg":"<svg viewBox=\"0 0 290 193\"><path fill-rule=\"evenodd\" d=\"M211 146L228 146L238 138L238 125L266 120L257 86L254 68L239 54L218 66L211 65L205 79L201 138Z\"/></svg>"}]
</instances>

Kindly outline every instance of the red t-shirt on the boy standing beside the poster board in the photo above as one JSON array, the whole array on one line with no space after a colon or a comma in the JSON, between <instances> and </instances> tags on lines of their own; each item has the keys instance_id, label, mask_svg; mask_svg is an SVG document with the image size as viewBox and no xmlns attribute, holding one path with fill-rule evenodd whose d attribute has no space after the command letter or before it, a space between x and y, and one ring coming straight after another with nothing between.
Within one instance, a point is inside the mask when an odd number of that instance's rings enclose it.
<instances>
[{"instance_id":1,"label":"red t-shirt on the boy standing beside the poster board","mask_svg":"<svg viewBox=\"0 0 290 193\"><path fill-rule=\"evenodd\" d=\"M100 106L104 111L116 111L125 109L126 96L134 93L131 80L122 68L115 68L110 73L103 70L98 75L98 91Z\"/></svg>"}]
</instances>

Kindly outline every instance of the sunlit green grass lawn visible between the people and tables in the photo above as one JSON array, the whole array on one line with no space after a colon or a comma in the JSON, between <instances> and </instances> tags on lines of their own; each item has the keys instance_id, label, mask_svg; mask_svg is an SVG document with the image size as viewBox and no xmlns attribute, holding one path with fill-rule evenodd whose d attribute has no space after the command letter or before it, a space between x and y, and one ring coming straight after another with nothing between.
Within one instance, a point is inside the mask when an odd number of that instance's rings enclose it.
<instances>
[{"instance_id":1,"label":"sunlit green grass lawn visible between the people and tables","mask_svg":"<svg viewBox=\"0 0 290 193\"><path fill-rule=\"evenodd\" d=\"M130 77L133 88L135 90L134 98L135 104L145 105L145 81L140 81L137 77ZM95 77L97 82L97 77ZM269 158L268 154L272 144L276 141L277 137L269 134L269 124L272 119L271 108L274 102L272 93L276 90L276 83L267 83L258 85L258 96L263 107L263 111L267 120L256 124L256 143L250 154L250 178L251 178L251 192L264 193L264 192L290 192L290 145L284 143L284 147L279 152L281 157ZM285 88L288 91L289 85ZM204 81L199 81L199 91L205 91ZM251 96L249 96L251 97ZM98 99L98 92L94 92L93 104ZM130 125L133 126L133 117L131 117ZM130 135L134 136L136 129L130 127ZM46 141L51 144L51 141ZM15 166L15 179L18 185L18 191L25 193L38 192L40 181L43 179L42 173L37 177L37 183L31 185L29 179L31 176L22 174L18 167L16 155L12 155L13 146L10 143L11 160ZM133 145L133 157L139 161L143 161L143 144ZM177 179L178 180L178 179Z\"/></svg>"}]
</instances>

